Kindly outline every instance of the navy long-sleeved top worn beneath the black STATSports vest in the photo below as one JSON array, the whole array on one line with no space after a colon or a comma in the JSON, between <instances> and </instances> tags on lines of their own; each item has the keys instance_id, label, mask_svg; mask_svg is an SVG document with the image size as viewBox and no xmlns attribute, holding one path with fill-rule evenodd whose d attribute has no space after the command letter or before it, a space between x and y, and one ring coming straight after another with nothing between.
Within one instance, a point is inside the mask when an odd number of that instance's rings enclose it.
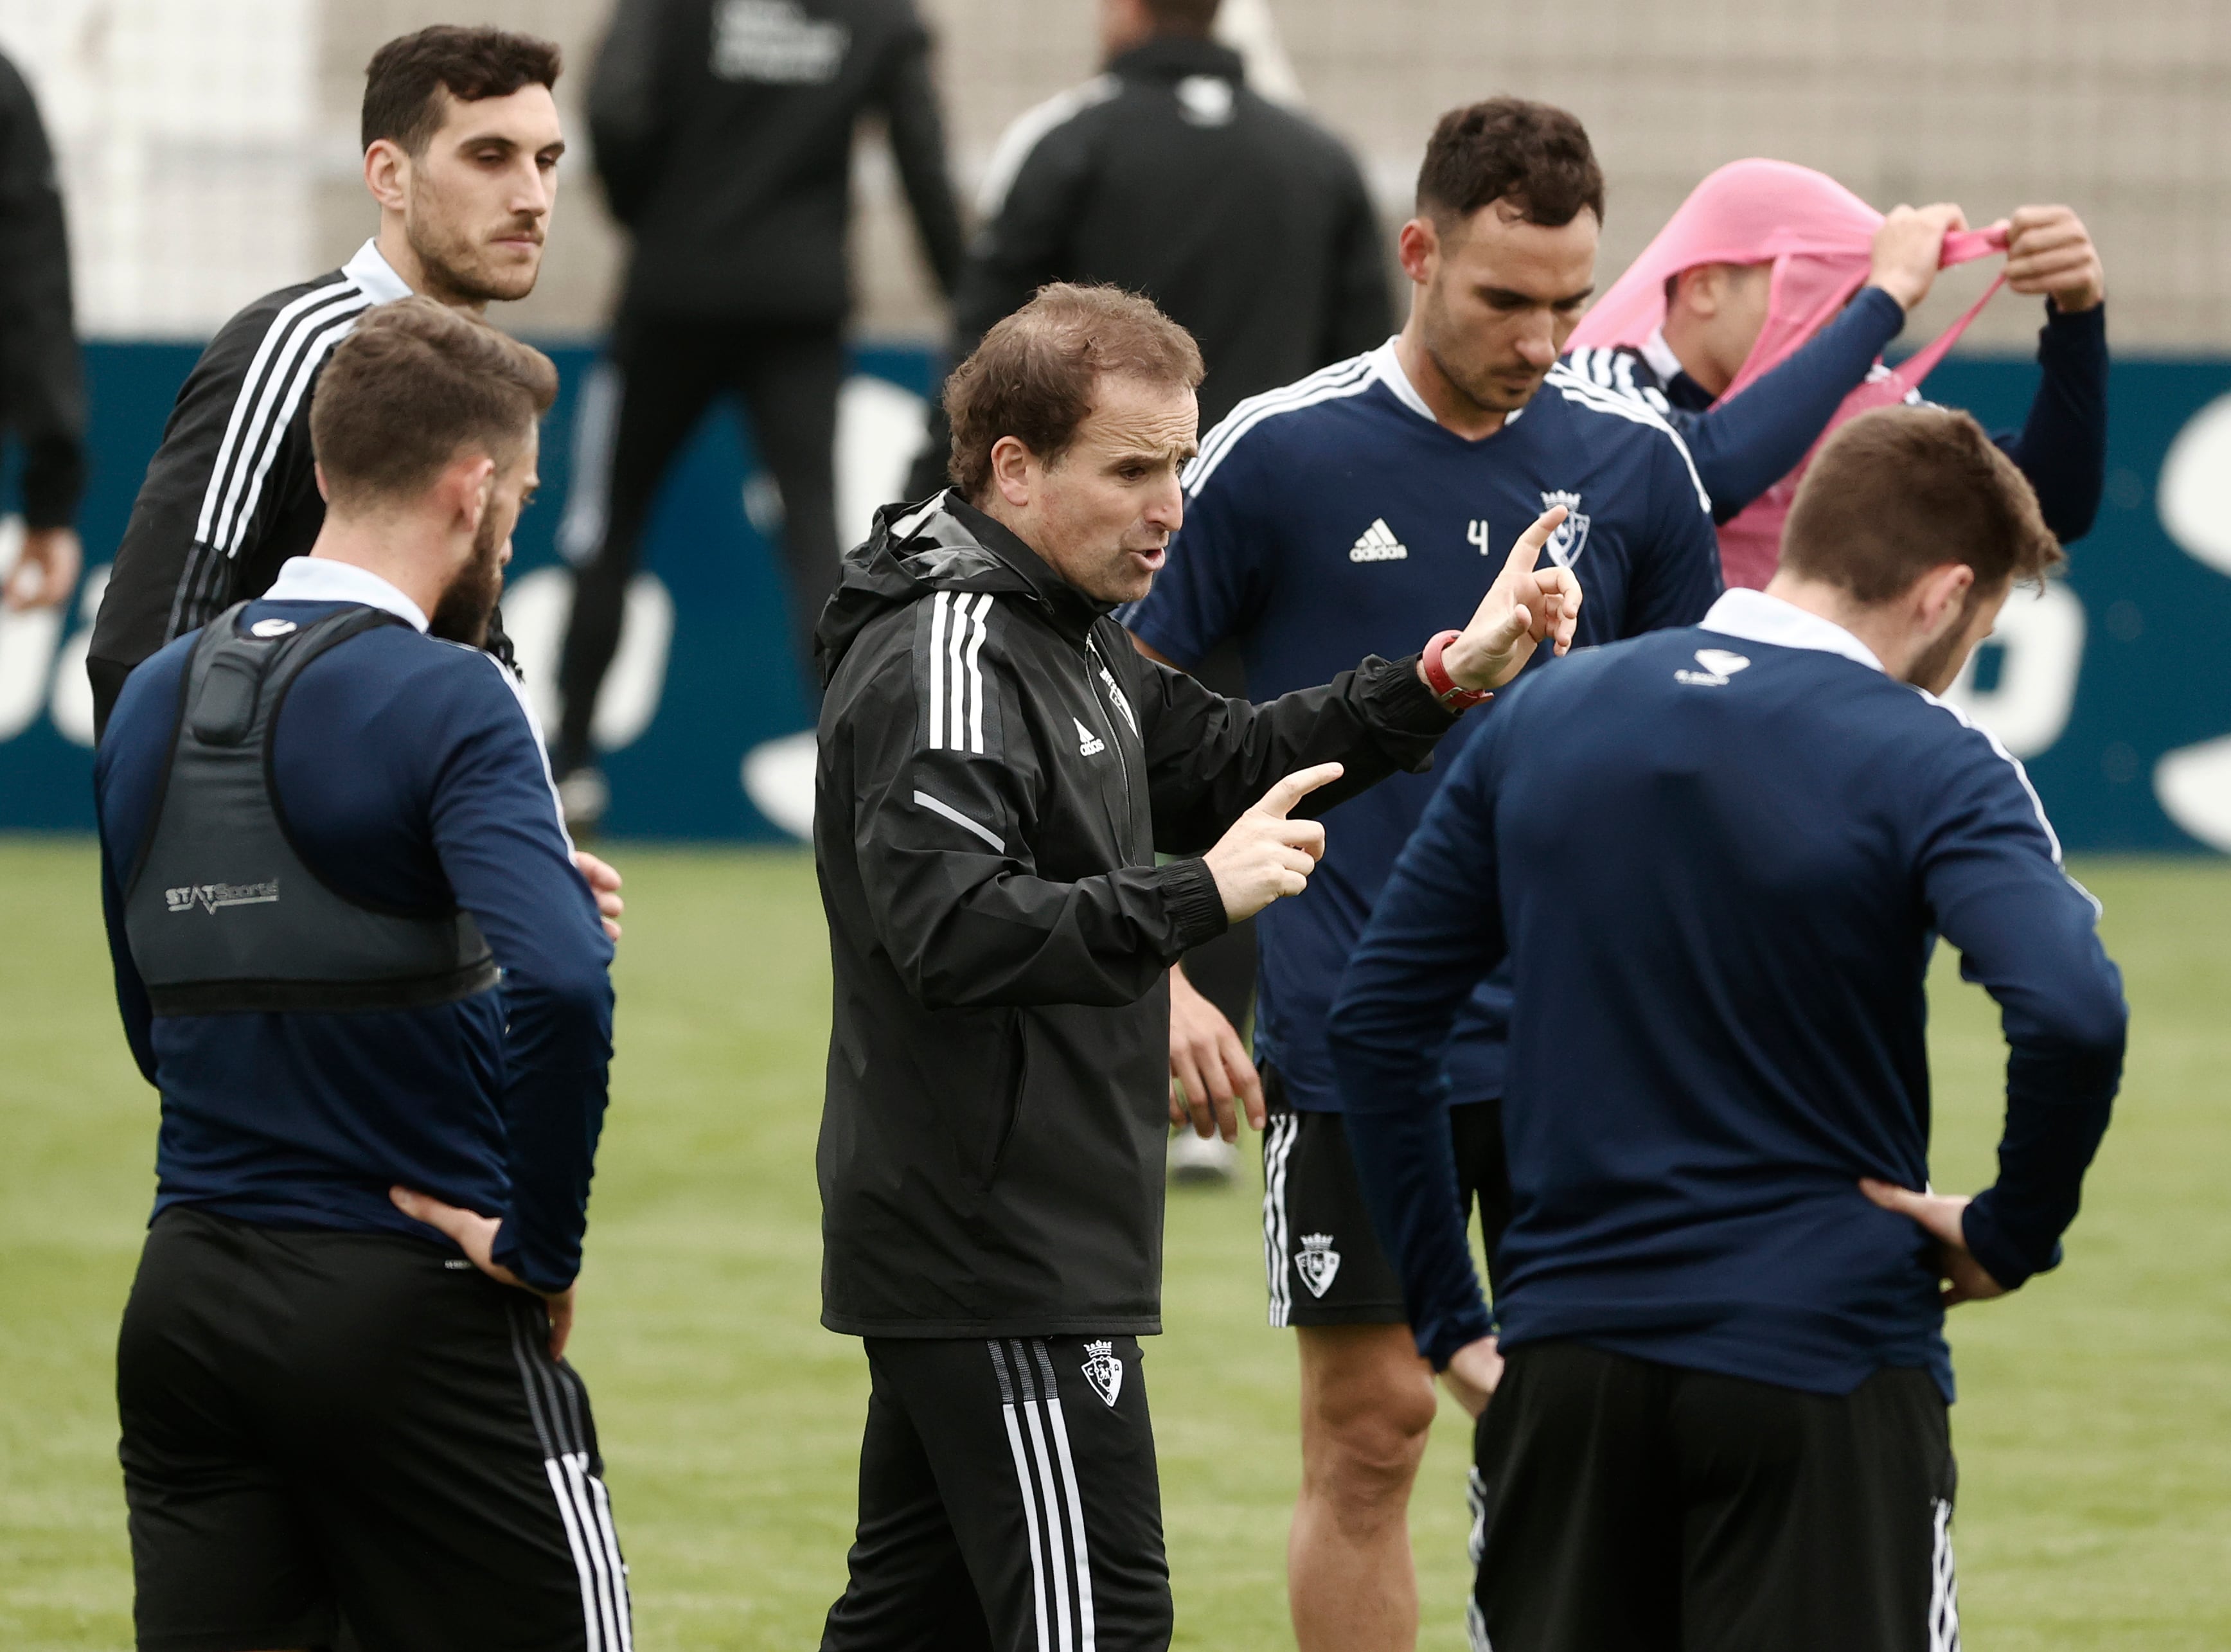
<instances>
[{"instance_id":1,"label":"navy long-sleeved top worn beneath the black STATSports vest","mask_svg":"<svg viewBox=\"0 0 2231 1652\"><path fill-rule=\"evenodd\" d=\"M241 623L308 625L335 607L259 601ZM132 672L94 766L116 1000L163 1092L156 1212L187 1203L446 1246L388 1201L404 1183L500 1217L495 1259L564 1288L605 1118L611 942L513 679L480 650L382 625L301 672L272 750L279 808L310 868L355 900L462 906L502 985L433 1009L154 1016L120 880L149 826L196 636Z\"/></svg>"}]
</instances>

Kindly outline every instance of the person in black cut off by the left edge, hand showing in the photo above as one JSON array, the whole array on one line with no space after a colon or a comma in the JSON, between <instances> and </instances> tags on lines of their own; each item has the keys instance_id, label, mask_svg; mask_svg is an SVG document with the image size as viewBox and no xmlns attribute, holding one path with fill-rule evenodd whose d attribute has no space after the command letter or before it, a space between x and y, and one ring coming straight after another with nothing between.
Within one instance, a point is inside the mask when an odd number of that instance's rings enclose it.
<instances>
[{"instance_id":1,"label":"person in black cut off by the left edge, hand showing","mask_svg":"<svg viewBox=\"0 0 2231 1652\"><path fill-rule=\"evenodd\" d=\"M85 491L85 368L69 319L69 239L31 87L0 56L0 438L22 442L25 574L13 603L69 601ZM31 585L31 567L38 583Z\"/></svg>"}]
</instances>

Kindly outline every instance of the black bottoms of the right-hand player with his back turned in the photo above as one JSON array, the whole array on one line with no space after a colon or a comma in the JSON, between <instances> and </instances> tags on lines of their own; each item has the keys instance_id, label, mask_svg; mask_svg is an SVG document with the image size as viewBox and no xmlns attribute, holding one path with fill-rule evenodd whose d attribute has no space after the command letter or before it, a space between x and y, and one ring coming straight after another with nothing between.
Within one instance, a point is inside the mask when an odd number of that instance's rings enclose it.
<instances>
[{"instance_id":1,"label":"black bottoms of the right-hand player with his back turned","mask_svg":"<svg viewBox=\"0 0 2231 1652\"><path fill-rule=\"evenodd\" d=\"M1475 1648L1959 1652L1925 1371L1825 1395L1528 1342L1475 1449Z\"/></svg>"}]
</instances>

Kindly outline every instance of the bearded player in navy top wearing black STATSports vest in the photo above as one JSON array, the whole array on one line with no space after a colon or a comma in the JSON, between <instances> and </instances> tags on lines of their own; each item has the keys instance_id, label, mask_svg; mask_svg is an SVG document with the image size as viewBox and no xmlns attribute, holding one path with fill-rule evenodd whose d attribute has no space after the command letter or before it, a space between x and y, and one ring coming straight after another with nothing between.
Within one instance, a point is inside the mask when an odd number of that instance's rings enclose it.
<instances>
[{"instance_id":1,"label":"bearded player in navy top wearing black STATSports vest","mask_svg":"<svg viewBox=\"0 0 2231 1652\"><path fill-rule=\"evenodd\" d=\"M141 1645L627 1645L562 1360L611 940L480 647L556 388L433 299L368 310L310 413L312 554L103 734L116 996L163 1096L116 1351Z\"/></svg>"}]
</instances>

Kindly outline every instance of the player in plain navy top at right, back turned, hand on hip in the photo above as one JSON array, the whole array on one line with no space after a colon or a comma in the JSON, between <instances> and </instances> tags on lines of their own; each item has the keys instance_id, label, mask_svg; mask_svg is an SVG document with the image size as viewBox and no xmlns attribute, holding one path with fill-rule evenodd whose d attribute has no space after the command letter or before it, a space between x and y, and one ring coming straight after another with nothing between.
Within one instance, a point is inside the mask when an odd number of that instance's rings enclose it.
<instances>
[{"instance_id":1,"label":"player in plain navy top at right, back turned, hand on hip","mask_svg":"<svg viewBox=\"0 0 2231 1652\"><path fill-rule=\"evenodd\" d=\"M2059 560L1972 417L1865 413L1762 594L1517 685L1403 851L1332 1049L1417 1346L1486 1409L1475 1643L1959 1645L1943 1310L2059 1261L2126 1009L2021 766L1934 694ZM1939 935L2010 1045L1972 1201L1925 1192ZM1432 1051L1506 955L1490 1319Z\"/></svg>"}]
</instances>

